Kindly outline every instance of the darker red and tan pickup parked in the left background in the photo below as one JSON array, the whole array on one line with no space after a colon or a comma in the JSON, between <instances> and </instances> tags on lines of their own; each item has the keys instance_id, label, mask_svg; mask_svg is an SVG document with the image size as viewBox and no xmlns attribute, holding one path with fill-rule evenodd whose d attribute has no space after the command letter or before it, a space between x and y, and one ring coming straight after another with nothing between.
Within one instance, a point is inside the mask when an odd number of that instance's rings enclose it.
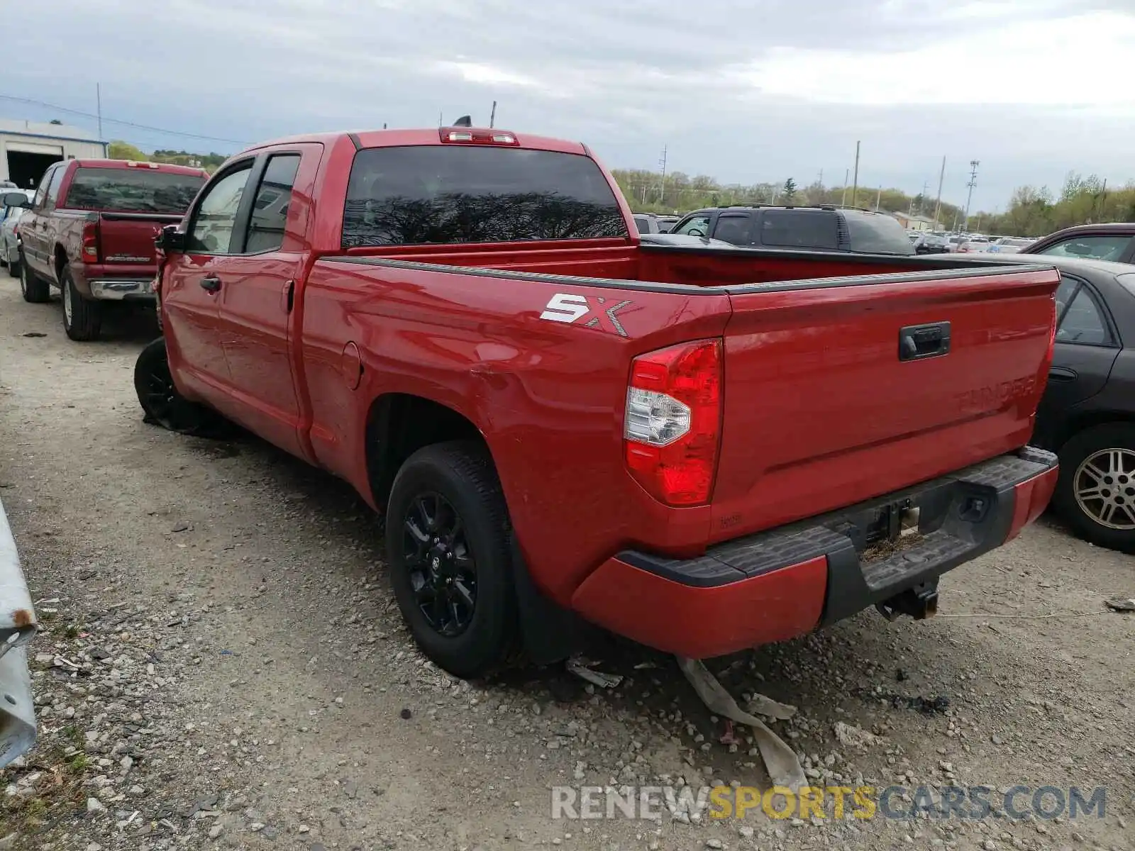
<instances>
[{"instance_id":1,"label":"darker red and tan pickup parked in the left background","mask_svg":"<svg viewBox=\"0 0 1135 851\"><path fill-rule=\"evenodd\" d=\"M62 293L64 329L93 340L103 302L150 300L154 237L177 222L209 177L204 169L132 160L51 166L19 220L19 288L28 302Z\"/></svg>"}]
</instances>

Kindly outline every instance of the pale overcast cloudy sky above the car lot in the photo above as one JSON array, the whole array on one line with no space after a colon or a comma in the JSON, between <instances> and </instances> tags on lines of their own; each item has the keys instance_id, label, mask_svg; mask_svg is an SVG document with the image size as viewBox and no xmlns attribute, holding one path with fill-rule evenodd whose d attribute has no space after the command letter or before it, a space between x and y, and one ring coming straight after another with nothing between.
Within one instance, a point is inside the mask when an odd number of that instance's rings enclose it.
<instances>
[{"instance_id":1,"label":"pale overcast cloudy sky above the car lot","mask_svg":"<svg viewBox=\"0 0 1135 851\"><path fill-rule=\"evenodd\" d=\"M471 112L615 168L936 189L1003 208L1135 179L1135 0L40 0L2 11L0 117L145 149ZM18 49L12 58L11 50ZM211 138L169 135L109 119Z\"/></svg>"}]
</instances>

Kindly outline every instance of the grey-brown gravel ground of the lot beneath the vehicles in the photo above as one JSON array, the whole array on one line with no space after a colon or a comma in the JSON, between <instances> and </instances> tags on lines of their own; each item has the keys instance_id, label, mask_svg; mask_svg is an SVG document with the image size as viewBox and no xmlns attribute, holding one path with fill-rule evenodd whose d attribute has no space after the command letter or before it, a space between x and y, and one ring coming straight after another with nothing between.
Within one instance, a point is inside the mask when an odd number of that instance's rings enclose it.
<instances>
[{"instance_id":1,"label":"grey-brown gravel ground of the lot beneath the vehicles","mask_svg":"<svg viewBox=\"0 0 1135 851\"><path fill-rule=\"evenodd\" d=\"M865 613L711 664L739 699L799 708L774 728L817 783L1103 785L1102 819L553 819L554 785L767 778L641 648L605 660L613 690L435 669L345 485L142 423L153 334L72 343L58 302L0 279L0 499L44 623L0 849L1133 848L1135 621L1102 606L1135 592L1130 558L1043 521L948 574L936 618ZM877 738L844 745L836 723Z\"/></svg>"}]
</instances>

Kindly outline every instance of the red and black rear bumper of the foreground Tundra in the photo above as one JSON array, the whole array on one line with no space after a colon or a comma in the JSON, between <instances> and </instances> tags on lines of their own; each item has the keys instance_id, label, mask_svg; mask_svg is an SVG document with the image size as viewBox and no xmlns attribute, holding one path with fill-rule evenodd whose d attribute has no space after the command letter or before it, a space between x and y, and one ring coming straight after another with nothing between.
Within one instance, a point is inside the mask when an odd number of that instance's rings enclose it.
<instances>
[{"instance_id":1,"label":"red and black rear bumper of the foreground Tundra","mask_svg":"<svg viewBox=\"0 0 1135 851\"><path fill-rule=\"evenodd\" d=\"M1026 447L951 475L673 559L608 558L577 589L589 621L667 652L706 658L783 641L915 589L1012 539L1044 511L1056 455ZM917 533L874 541L903 508ZM909 517L909 514L907 515ZM891 520L896 519L896 520ZM882 526L881 526L882 524ZM869 555L866 557L864 553Z\"/></svg>"}]
</instances>

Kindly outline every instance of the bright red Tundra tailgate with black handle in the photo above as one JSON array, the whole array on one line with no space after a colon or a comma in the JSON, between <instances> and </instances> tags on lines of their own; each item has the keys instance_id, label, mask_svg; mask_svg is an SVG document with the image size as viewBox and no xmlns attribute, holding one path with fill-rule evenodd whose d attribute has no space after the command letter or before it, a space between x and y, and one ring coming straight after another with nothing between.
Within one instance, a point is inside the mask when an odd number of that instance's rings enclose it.
<instances>
[{"instance_id":1,"label":"bright red Tundra tailgate with black handle","mask_svg":"<svg viewBox=\"0 0 1135 851\"><path fill-rule=\"evenodd\" d=\"M1017 266L730 288L712 538L1026 444L1058 284Z\"/></svg>"}]
</instances>

